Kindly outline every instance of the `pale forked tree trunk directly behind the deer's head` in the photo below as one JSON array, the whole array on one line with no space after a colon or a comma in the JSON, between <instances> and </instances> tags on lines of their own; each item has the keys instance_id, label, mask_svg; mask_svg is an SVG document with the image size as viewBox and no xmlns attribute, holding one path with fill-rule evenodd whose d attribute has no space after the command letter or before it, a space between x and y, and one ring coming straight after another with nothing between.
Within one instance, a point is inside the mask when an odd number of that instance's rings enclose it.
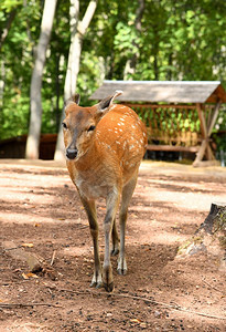
<instances>
[{"instance_id":1,"label":"pale forked tree trunk directly behind the deer's head","mask_svg":"<svg viewBox=\"0 0 226 332\"><path fill-rule=\"evenodd\" d=\"M76 92L77 75L79 72L80 52L83 45L83 38L88 29L92 18L95 13L97 7L97 0L92 0L87 7L85 15L82 21L78 20L79 17L79 1L71 0L71 46L69 55L67 62L66 79L64 85L64 101L68 100ZM61 123L64 120L64 110L62 111ZM56 149L54 159L63 160L65 159L63 142L63 132L60 124L58 136L56 142Z\"/></svg>"}]
</instances>

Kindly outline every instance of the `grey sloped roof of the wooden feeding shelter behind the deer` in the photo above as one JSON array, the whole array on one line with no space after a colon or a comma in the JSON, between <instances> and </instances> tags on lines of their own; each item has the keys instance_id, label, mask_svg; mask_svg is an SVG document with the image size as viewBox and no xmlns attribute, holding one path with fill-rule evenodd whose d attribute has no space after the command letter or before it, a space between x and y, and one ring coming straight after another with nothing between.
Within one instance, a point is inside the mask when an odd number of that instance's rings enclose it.
<instances>
[{"instance_id":1,"label":"grey sloped roof of the wooden feeding shelter behind the deer","mask_svg":"<svg viewBox=\"0 0 226 332\"><path fill-rule=\"evenodd\" d=\"M104 81L90 96L101 100L122 90L117 100L149 103L226 103L226 92L219 81Z\"/></svg>"}]
</instances>

